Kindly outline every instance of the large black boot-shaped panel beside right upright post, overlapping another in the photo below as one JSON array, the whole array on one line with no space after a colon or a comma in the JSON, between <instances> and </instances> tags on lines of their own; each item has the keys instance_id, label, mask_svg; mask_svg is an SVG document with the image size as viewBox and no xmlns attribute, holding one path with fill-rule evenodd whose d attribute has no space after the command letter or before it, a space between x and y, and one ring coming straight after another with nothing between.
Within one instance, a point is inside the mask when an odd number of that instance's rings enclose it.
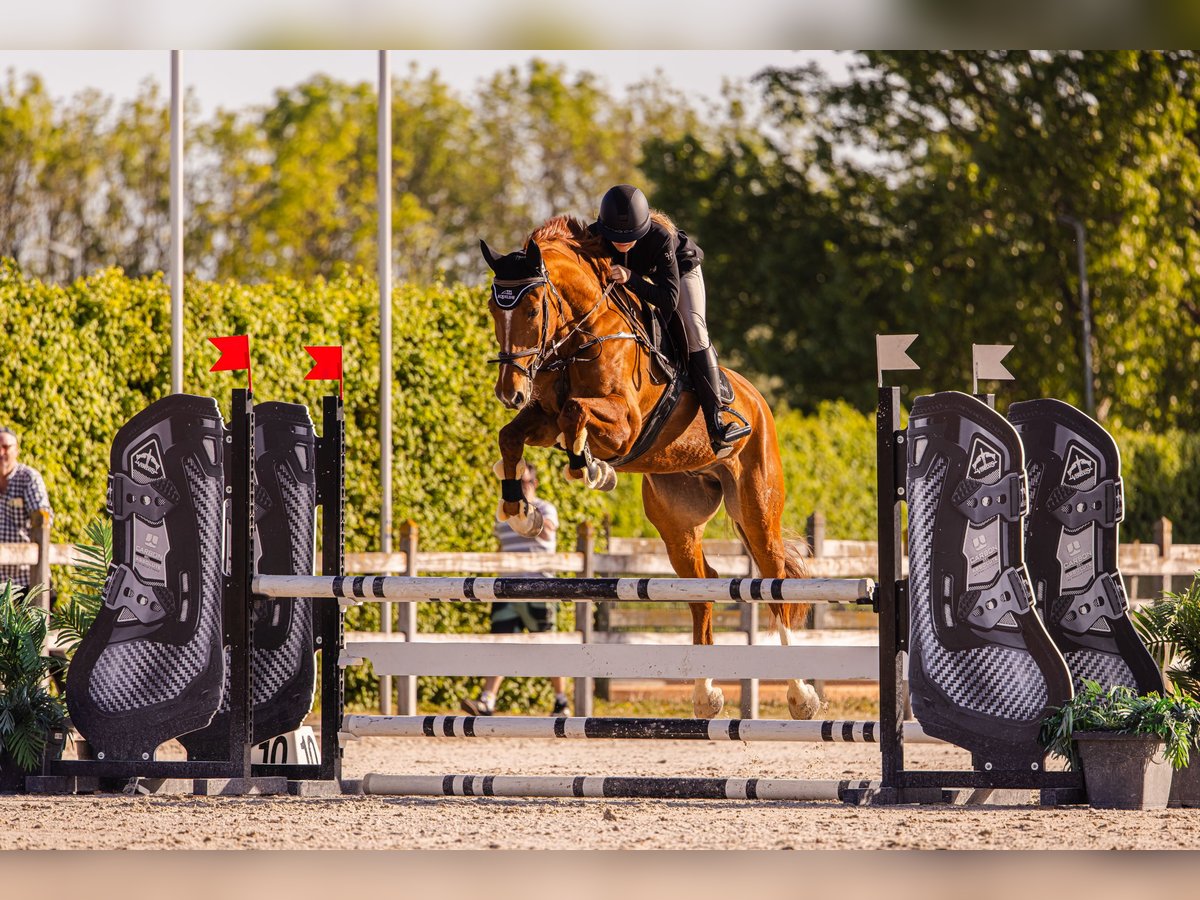
<instances>
[{"instance_id":1,"label":"large black boot-shaped panel beside right upright post, overlapping another","mask_svg":"<svg viewBox=\"0 0 1200 900\"><path fill-rule=\"evenodd\" d=\"M913 713L977 767L1036 769L1042 720L1072 686L1025 570L1021 442L958 392L918 397L907 437Z\"/></svg>"}]
</instances>

